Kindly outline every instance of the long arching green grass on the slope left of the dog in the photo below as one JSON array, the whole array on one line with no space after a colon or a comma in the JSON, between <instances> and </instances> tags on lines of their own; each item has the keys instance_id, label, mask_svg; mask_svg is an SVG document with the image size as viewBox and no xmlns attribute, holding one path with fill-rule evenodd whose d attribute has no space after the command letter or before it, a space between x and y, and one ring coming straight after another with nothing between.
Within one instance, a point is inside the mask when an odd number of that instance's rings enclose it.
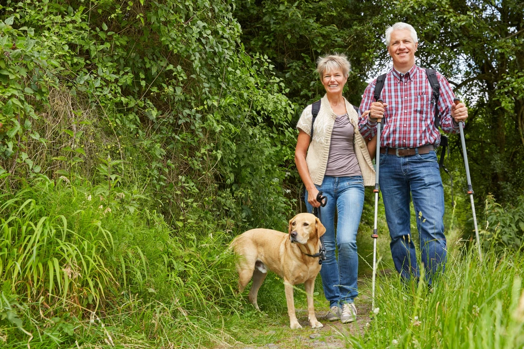
<instances>
[{"instance_id":1,"label":"long arching green grass on the slope left of the dog","mask_svg":"<svg viewBox=\"0 0 524 349\"><path fill-rule=\"evenodd\" d=\"M173 230L145 199L45 176L0 206L2 347L169 347L231 340L231 236Z\"/></svg>"}]
</instances>

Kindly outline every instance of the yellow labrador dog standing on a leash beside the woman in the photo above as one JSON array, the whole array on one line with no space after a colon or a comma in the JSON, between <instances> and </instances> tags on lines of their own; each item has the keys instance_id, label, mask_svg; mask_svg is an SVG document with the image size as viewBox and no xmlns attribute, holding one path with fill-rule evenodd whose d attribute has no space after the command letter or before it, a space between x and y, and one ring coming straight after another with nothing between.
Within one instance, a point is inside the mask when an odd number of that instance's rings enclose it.
<instances>
[{"instance_id":1,"label":"yellow labrador dog standing on a leash beside the woman","mask_svg":"<svg viewBox=\"0 0 524 349\"><path fill-rule=\"evenodd\" d=\"M293 286L304 283L309 323L313 329L323 327L316 320L313 305L313 288L320 265L319 258L312 255L319 252L320 237L325 231L317 217L311 213L300 213L289 221L288 234L260 228L248 230L236 237L231 246L240 256L236 264L239 291L242 292L253 278L248 299L258 309L258 289L268 269L275 272L284 280L289 326L291 329L300 329L302 326L298 323L294 308Z\"/></svg>"}]
</instances>

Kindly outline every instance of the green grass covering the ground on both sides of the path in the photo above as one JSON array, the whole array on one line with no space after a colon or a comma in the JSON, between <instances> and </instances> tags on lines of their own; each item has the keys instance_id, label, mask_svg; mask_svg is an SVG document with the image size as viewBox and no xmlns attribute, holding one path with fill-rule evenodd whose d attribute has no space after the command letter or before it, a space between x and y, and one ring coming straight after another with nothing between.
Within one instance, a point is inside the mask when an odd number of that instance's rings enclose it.
<instances>
[{"instance_id":1,"label":"green grass covering the ground on both sides of the path","mask_svg":"<svg viewBox=\"0 0 524 349\"><path fill-rule=\"evenodd\" d=\"M105 188L105 184L104 187ZM0 346L297 347L313 330L291 331L283 283L270 274L257 312L236 295L232 237L213 217L193 213L176 228L147 198L114 188L41 176L5 192L0 206ZM102 207L101 207L102 206ZM111 210L108 210L111 209ZM449 236L449 261L433 291L403 284L388 239L379 241L376 308L363 331L325 329L348 347L510 348L524 345L524 262L518 252L485 250L483 263ZM365 226L361 264L370 260ZM370 309L363 267L357 304ZM320 278L316 309L326 308ZM303 286L297 309L306 309ZM373 314L373 313L372 313ZM367 314L359 314L365 317ZM300 318L301 317L301 318ZM305 319L304 312L299 320ZM348 325L355 326L355 325ZM348 327L349 328L349 327Z\"/></svg>"}]
</instances>

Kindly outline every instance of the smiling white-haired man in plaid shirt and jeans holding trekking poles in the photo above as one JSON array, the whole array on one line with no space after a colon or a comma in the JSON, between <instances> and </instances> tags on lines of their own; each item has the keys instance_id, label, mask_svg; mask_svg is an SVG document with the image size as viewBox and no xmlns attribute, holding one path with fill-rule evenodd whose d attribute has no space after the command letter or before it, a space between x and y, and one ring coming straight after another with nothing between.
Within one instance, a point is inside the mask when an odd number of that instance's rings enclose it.
<instances>
[{"instance_id":1,"label":"smiling white-haired man in plaid shirt and jeans holding trekking poles","mask_svg":"<svg viewBox=\"0 0 524 349\"><path fill-rule=\"evenodd\" d=\"M440 98L435 105L432 86L424 69L415 64L417 32L406 23L386 30L386 46L393 68L386 74L380 98L374 99L377 80L364 92L360 110L370 110L359 119L364 138L376 134L376 124L384 117L380 135L379 184L391 236L391 255L400 275L409 280L420 277L415 247L411 239L410 194L417 215L421 261L429 284L435 272L444 269L444 191L436 147L440 132L435 126L435 108L446 133L458 133L459 121L467 118L467 108L453 103L447 80L436 73Z\"/></svg>"}]
</instances>

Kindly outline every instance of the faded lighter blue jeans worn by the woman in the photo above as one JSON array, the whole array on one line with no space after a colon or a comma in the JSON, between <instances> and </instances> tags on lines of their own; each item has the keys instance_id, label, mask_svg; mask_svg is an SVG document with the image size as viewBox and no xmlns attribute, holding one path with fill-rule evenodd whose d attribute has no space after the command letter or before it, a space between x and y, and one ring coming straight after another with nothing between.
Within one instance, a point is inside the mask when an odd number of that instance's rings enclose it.
<instances>
[{"instance_id":1,"label":"faded lighter blue jeans worn by the woman","mask_svg":"<svg viewBox=\"0 0 524 349\"><path fill-rule=\"evenodd\" d=\"M316 189L323 191L328 204L320 208L322 224L326 228L324 247L326 260L322 263L320 276L324 295L333 306L341 307L343 303L353 303L358 295L357 274L357 231L364 207L364 181L362 176L330 177L324 176L322 186ZM307 202L308 212L312 206ZM339 260L335 257L335 210L337 216L336 247Z\"/></svg>"}]
</instances>

